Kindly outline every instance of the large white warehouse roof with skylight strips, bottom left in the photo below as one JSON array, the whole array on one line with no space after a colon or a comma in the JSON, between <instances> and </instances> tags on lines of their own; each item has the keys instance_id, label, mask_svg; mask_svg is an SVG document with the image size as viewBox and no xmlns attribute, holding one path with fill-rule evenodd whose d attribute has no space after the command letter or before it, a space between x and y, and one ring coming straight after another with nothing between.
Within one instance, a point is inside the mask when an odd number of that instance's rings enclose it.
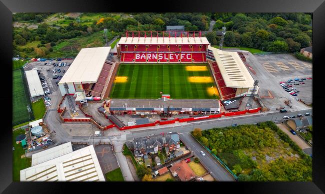
<instances>
[{"instance_id":1,"label":"large white warehouse roof with skylight strips, bottom left","mask_svg":"<svg viewBox=\"0 0 325 194\"><path fill-rule=\"evenodd\" d=\"M89 145L20 170L20 181L105 181L105 178L93 145Z\"/></svg>"}]
</instances>

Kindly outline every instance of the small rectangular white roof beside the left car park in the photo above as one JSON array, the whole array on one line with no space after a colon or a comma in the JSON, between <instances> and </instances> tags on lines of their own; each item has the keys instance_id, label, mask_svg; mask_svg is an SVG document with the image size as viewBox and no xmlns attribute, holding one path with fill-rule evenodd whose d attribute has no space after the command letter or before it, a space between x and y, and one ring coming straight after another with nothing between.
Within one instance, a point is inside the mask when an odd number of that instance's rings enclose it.
<instances>
[{"instance_id":1,"label":"small rectangular white roof beside the left car park","mask_svg":"<svg viewBox=\"0 0 325 194\"><path fill-rule=\"evenodd\" d=\"M44 95L37 70L25 71L30 97Z\"/></svg>"}]
</instances>

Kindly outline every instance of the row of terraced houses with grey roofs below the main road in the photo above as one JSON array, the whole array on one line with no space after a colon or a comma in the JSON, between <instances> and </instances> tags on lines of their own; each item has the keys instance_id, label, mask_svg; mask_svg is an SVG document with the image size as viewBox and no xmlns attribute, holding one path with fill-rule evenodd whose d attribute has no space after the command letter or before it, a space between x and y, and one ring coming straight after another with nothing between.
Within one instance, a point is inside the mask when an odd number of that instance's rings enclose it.
<instances>
[{"instance_id":1,"label":"row of terraced houses with grey roofs below the main road","mask_svg":"<svg viewBox=\"0 0 325 194\"><path fill-rule=\"evenodd\" d=\"M133 152L136 157L145 154L155 154L165 147L166 151L180 149L179 135L177 133L159 134L148 137L135 138L133 140Z\"/></svg>"}]
</instances>

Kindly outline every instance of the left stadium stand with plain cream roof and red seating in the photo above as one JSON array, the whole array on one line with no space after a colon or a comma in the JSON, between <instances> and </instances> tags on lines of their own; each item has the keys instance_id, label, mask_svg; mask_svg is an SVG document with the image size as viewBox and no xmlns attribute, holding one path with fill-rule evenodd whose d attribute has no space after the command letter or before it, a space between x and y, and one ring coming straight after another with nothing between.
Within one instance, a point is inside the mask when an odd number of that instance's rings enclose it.
<instances>
[{"instance_id":1,"label":"left stadium stand with plain cream roof and red seating","mask_svg":"<svg viewBox=\"0 0 325 194\"><path fill-rule=\"evenodd\" d=\"M79 94L78 101L84 98L107 96L107 85L112 74L114 63L106 60L110 47L84 48L73 60L69 69L58 83L61 95L66 94L64 83L68 86L69 95Z\"/></svg>"}]
</instances>

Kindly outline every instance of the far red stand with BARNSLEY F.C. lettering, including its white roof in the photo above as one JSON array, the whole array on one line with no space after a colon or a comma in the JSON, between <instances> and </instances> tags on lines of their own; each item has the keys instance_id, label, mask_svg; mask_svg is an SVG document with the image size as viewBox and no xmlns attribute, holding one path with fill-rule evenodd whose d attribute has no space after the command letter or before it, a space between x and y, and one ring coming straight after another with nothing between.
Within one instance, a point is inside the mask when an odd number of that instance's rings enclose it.
<instances>
[{"instance_id":1,"label":"far red stand with BARNSLEY F.C. lettering, including its white roof","mask_svg":"<svg viewBox=\"0 0 325 194\"><path fill-rule=\"evenodd\" d=\"M161 34L162 33L162 37ZM209 42L201 32L126 32L117 53L121 63L202 63L206 62ZM183 35L186 34L186 35ZM196 34L196 36L195 36ZM144 36L143 36L144 35ZM165 37L167 36L168 37Z\"/></svg>"}]
</instances>

